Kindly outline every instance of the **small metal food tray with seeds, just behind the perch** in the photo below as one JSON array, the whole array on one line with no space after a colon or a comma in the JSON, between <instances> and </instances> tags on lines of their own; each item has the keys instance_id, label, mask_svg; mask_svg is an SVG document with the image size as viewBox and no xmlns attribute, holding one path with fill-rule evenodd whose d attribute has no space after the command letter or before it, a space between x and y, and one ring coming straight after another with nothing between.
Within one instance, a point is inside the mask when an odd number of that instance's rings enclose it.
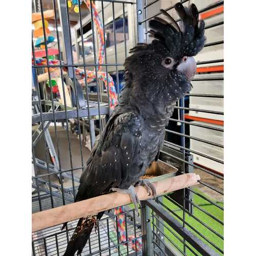
<instances>
[{"instance_id":1,"label":"small metal food tray with seeds, just behind the perch","mask_svg":"<svg viewBox=\"0 0 256 256\"><path fill-rule=\"evenodd\" d=\"M178 168L158 160L157 162L153 162L151 167L146 169L145 175L141 176L140 178L143 180L150 180L151 182L155 182L175 177L177 176L177 172Z\"/></svg>"}]
</instances>

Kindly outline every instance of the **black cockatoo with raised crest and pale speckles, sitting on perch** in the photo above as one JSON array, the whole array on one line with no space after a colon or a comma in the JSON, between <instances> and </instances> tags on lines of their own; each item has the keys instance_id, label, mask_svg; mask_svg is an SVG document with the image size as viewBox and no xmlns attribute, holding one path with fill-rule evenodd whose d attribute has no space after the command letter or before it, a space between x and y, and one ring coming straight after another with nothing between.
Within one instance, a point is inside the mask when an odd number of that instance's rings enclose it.
<instances>
[{"instance_id":1,"label":"black cockatoo with raised crest and pale speckles, sitting on perch","mask_svg":"<svg viewBox=\"0 0 256 256\"><path fill-rule=\"evenodd\" d=\"M159 157L176 101L191 89L190 81L196 73L192 56L205 42L204 22L199 22L196 6L186 8L178 3L175 10L181 18L180 26L161 10L170 23L159 17L150 20L149 32L154 40L138 44L125 59L125 86L87 161L75 202L113 190L129 193L138 210L136 184L144 185L155 196L154 186L139 177ZM81 253L103 213L79 219L64 255Z\"/></svg>"}]
</instances>

